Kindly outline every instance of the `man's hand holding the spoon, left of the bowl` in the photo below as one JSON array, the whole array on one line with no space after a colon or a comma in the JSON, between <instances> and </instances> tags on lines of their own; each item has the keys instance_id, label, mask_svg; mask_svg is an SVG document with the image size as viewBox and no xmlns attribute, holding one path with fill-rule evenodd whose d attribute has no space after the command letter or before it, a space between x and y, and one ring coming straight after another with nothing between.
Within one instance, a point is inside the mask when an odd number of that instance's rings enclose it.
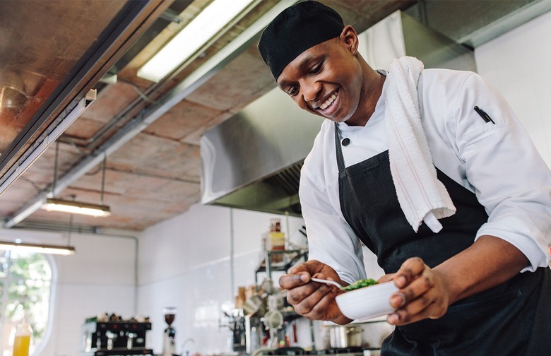
<instances>
[{"instance_id":1,"label":"man's hand holding the spoon, left of the bowl","mask_svg":"<svg viewBox=\"0 0 551 356\"><path fill-rule=\"evenodd\" d=\"M341 283L333 268L319 261L307 261L282 275L279 285L287 292L287 301L295 312L312 320L330 320L337 324L348 324L350 319L338 309L335 297L342 293L337 287L312 282L310 278L335 280Z\"/></svg>"}]
</instances>

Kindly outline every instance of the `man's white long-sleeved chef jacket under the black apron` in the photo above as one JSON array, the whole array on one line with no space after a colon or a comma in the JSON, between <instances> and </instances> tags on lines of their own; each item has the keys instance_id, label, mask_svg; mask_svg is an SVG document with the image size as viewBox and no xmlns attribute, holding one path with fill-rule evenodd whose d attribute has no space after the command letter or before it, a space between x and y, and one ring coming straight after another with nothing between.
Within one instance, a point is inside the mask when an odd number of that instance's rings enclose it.
<instances>
[{"instance_id":1,"label":"man's white long-sleeved chef jacket under the black apron","mask_svg":"<svg viewBox=\"0 0 551 356\"><path fill-rule=\"evenodd\" d=\"M365 126L338 124L340 137L350 138L342 146L346 167L388 149L385 87ZM434 165L473 191L489 216L473 238L492 235L513 244L530 261L523 271L547 266L551 172L504 97L477 73L447 69L422 71L417 90ZM482 119L475 105L495 124ZM304 161L300 203L309 259L328 264L351 283L366 275L360 239L340 210L333 128L332 121L323 122Z\"/></svg>"}]
</instances>

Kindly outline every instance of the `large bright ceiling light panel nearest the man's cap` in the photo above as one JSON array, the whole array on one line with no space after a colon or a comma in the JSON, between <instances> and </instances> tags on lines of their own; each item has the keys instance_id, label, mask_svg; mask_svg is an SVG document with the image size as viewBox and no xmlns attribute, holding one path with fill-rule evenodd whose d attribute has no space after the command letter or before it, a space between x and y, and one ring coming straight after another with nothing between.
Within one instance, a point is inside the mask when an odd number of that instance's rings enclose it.
<instances>
[{"instance_id":1,"label":"large bright ceiling light panel nearest the man's cap","mask_svg":"<svg viewBox=\"0 0 551 356\"><path fill-rule=\"evenodd\" d=\"M196 54L254 0L215 0L155 54L138 76L158 82Z\"/></svg>"}]
</instances>

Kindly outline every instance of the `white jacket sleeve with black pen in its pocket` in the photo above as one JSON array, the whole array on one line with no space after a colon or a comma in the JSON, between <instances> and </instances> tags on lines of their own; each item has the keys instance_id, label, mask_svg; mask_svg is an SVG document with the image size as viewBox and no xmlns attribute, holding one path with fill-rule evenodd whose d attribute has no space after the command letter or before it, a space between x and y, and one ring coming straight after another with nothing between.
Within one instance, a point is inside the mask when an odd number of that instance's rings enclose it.
<instances>
[{"instance_id":1,"label":"white jacket sleeve with black pen in its pocket","mask_svg":"<svg viewBox=\"0 0 551 356\"><path fill-rule=\"evenodd\" d=\"M474 107L493 120L486 121ZM456 152L466 179L489 215L476 238L492 235L521 250L523 271L548 266L551 172L513 110L476 73L466 77L454 103Z\"/></svg>"}]
</instances>

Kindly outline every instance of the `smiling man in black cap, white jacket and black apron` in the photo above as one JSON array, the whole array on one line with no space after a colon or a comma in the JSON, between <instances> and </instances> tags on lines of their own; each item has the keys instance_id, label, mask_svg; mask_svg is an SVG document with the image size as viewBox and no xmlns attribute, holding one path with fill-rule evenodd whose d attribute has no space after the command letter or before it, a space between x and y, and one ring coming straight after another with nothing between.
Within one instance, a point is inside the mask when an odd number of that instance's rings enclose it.
<instances>
[{"instance_id":1,"label":"smiling man in black cap, white jacket and black apron","mask_svg":"<svg viewBox=\"0 0 551 356\"><path fill-rule=\"evenodd\" d=\"M399 288L382 355L551 352L551 172L511 108L476 73L412 57L377 71L357 47L315 1L259 41L279 88L326 118L301 172L309 261L280 278L288 302L349 323L340 291L310 278L366 278L365 244Z\"/></svg>"}]
</instances>

